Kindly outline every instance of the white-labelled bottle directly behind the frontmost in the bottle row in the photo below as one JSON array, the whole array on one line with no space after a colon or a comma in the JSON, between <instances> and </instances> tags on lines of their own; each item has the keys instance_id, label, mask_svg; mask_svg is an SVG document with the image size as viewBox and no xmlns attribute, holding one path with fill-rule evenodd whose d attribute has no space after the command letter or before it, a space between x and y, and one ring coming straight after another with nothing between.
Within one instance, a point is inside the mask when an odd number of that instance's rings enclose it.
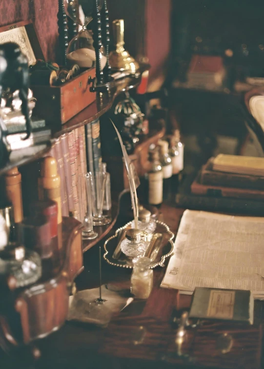
<instances>
[{"instance_id":1,"label":"white-labelled bottle directly behind the frontmost in the bottle row","mask_svg":"<svg viewBox=\"0 0 264 369\"><path fill-rule=\"evenodd\" d=\"M171 157L168 154L169 144L167 141L159 140L160 146L160 160L162 164L163 174L163 200L167 199L170 193L171 176L172 176L172 163Z\"/></svg>"}]
</instances>

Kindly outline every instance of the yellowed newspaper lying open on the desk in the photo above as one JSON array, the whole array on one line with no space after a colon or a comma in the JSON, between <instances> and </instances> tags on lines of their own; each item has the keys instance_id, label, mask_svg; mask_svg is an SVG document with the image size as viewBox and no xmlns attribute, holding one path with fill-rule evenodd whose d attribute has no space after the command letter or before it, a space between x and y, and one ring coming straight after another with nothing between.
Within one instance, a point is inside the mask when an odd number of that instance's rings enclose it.
<instances>
[{"instance_id":1,"label":"yellowed newspaper lying open on the desk","mask_svg":"<svg viewBox=\"0 0 264 369\"><path fill-rule=\"evenodd\" d=\"M264 218L185 210L161 287L246 289L264 299Z\"/></svg>"}]
</instances>

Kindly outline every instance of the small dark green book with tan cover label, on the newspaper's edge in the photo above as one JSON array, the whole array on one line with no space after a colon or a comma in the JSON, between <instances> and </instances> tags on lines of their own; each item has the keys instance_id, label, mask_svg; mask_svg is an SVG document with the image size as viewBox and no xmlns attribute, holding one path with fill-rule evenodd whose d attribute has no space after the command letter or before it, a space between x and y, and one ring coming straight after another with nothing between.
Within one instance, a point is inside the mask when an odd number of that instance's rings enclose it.
<instances>
[{"instance_id":1,"label":"small dark green book with tan cover label, on the newspaper's edge","mask_svg":"<svg viewBox=\"0 0 264 369\"><path fill-rule=\"evenodd\" d=\"M253 312L254 299L251 291L196 287L189 317L253 324Z\"/></svg>"}]
</instances>

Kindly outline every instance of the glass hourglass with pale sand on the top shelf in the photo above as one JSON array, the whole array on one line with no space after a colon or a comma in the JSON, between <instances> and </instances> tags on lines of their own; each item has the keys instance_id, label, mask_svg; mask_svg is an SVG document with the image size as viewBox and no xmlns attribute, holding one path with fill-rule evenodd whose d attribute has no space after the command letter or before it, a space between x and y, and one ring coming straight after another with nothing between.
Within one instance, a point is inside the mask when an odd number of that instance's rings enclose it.
<instances>
[{"instance_id":1,"label":"glass hourglass with pale sand on the top shelf","mask_svg":"<svg viewBox=\"0 0 264 369\"><path fill-rule=\"evenodd\" d=\"M81 30L68 45L67 60L71 64L78 64L81 68L91 68L95 66L96 53L93 46L93 33L87 30L87 25L93 20L93 4L94 1L87 0L85 2L85 16L81 17L81 12L78 8L78 0L63 0L65 13L73 21L76 21ZM98 0L99 10L102 9L103 0ZM100 49L101 69L106 64L106 52L104 46Z\"/></svg>"}]
</instances>

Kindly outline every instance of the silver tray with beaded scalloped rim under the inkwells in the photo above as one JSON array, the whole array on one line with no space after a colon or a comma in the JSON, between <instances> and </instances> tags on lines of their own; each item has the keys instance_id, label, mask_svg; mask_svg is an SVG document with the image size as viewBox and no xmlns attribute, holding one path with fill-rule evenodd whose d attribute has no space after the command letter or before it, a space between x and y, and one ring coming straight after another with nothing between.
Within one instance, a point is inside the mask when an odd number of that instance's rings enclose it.
<instances>
[{"instance_id":1,"label":"silver tray with beaded scalloped rim under the inkwells","mask_svg":"<svg viewBox=\"0 0 264 369\"><path fill-rule=\"evenodd\" d=\"M151 269L156 266L164 266L165 259L173 254L174 246L174 234L170 231L169 227L160 221L156 220L155 222L157 223L155 233L161 233L162 236L157 240L157 244L154 244L153 252L150 256ZM116 233L105 241L103 258L108 264L121 268L133 268L132 259L126 257L120 249L117 250L120 240L124 238L125 230L131 228L131 223L129 222L123 227L118 228Z\"/></svg>"}]
</instances>

